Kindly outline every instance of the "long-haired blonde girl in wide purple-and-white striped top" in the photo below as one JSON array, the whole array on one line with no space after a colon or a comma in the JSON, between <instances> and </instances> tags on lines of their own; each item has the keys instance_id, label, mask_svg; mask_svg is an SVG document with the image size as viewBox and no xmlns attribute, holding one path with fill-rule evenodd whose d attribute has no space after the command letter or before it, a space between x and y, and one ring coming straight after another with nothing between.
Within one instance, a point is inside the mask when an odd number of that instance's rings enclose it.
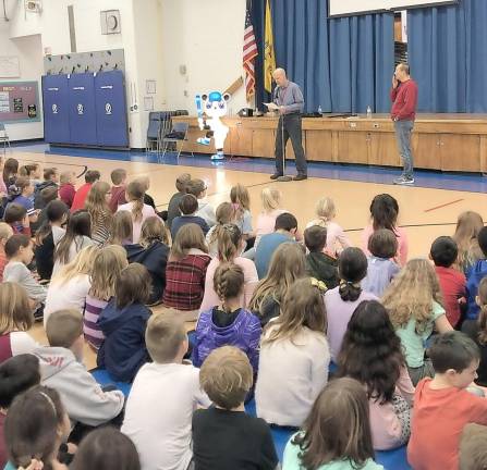
<instances>
[{"instance_id":1,"label":"long-haired blonde girl in wide purple-and-white striped top","mask_svg":"<svg viewBox=\"0 0 487 470\"><path fill-rule=\"evenodd\" d=\"M93 261L90 287L86 295L83 316L83 332L88 344L96 350L105 338L97 324L98 317L114 296L117 279L127 265L126 252L120 245L101 248Z\"/></svg>"}]
</instances>

